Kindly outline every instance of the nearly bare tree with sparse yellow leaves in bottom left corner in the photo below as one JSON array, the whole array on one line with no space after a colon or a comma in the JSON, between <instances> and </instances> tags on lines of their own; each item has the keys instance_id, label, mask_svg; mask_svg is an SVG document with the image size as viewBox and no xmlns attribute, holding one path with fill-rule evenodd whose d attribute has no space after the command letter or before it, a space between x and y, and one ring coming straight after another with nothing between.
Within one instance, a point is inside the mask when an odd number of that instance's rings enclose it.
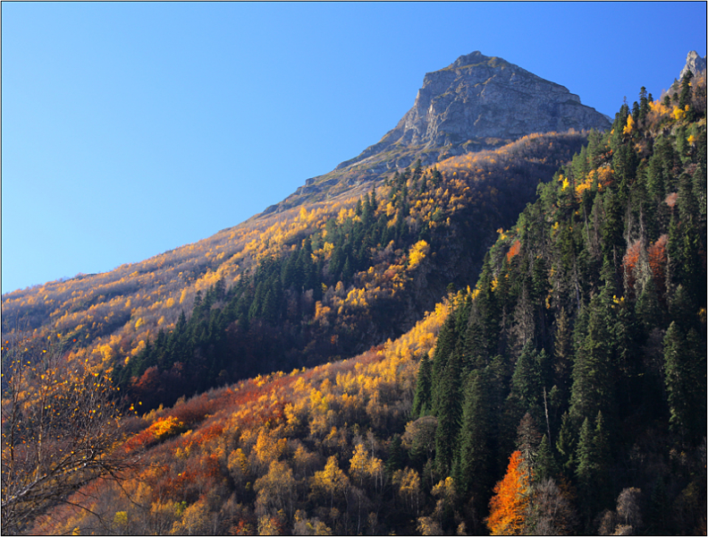
<instances>
[{"instance_id":1,"label":"nearly bare tree with sparse yellow leaves in bottom left corner","mask_svg":"<svg viewBox=\"0 0 708 537\"><path fill-rule=\"evenodd\" d=\"M119 478L132 461L103 372L30 337L3 344L2 524L14 534L92 480Z\"/></svg>"}]
</instances>

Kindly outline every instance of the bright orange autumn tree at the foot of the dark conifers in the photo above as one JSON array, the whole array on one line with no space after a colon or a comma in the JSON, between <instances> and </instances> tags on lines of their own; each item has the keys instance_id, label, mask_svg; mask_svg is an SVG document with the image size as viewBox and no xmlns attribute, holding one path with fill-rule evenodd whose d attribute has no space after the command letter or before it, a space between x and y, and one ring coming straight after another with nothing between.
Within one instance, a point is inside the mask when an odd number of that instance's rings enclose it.
<instances>
[{"instance_id":1,"label":"bright orange autumn tree at the foot of the dark conifers","mask_svg":"<svg viewBox=\"0 0 708 537\"><path fill-rule=\"evenodd\" d=\"M494 486L494 496L489 502L489 516L485 518L493 535L521 535L526 522L529 501L529 471L524 467L520 451L514 451L507 473Z\"/></svg>"}]
</instances>

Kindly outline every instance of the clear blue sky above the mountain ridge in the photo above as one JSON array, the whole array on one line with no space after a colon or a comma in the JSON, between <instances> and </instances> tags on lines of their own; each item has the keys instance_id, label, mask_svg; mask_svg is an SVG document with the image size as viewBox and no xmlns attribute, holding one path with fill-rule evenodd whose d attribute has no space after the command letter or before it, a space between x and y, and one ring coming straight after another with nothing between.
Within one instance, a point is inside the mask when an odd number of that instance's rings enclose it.
<instances>
[{"instance_id":1,"label":"clear blue sky above the mountain ridge","mask_svg":"<svg viewBox=\"0 0 708 537\"><path fill-rule=\"evenodd\" d=\"M479 50L614 115L699 3L3 3L2 291L235 226L355 157Z\"/></svg>"}]
</instances>

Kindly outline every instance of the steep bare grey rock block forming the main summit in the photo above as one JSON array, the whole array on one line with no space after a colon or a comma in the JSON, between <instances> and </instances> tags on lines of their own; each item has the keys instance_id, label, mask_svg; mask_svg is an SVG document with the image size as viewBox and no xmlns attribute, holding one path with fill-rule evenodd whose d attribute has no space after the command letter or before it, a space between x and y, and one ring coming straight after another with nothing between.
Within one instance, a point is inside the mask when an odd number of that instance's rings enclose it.
<instances>
[{"instance_id":1,"label":"steep bare grey rock block forming the main summit","mask_svg":"<svg viewBox=\"0 0 708 537\"><path fill-rule=\"evenodd\" d=\"M563 86L477 51L428 72L409 112L355 161L396 143L433 149L488 138L513 141L532 132L603 130L610 124Z\"/></svg>"}]
</instances>

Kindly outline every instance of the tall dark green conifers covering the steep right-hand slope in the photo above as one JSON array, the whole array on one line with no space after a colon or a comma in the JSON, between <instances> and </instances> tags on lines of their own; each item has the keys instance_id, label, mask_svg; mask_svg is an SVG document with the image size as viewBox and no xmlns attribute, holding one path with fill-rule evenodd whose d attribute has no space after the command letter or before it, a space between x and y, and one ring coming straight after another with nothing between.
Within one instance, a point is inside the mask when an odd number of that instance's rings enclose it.
<instances>
[{"instance_id":1,"label":"tall dark green conifers covering the steep right-hand slope","mask_svg":"<svg viewBox=\"0 0 708 537\"><path fill-rule=\"evenodd\" d=\"M586 532L609 524L598 516L623 489L654 490L684 515L687 498L704 501L704 491L695 494L704 476L690 465L669 470L677 453L700 458L706 430L705 117L692 88L682 82L673 110L642 89L611 132L591 133L539 185L516 226L500 230L468 295L467 321L456 311L441 333L432 367L433 415L445 427L436 469L476 505L488 498L476 484L490 482L488 472L501 479L504 460L489 458L492 445L504 456L520 449L537 482L574 487ZM498 379L492 360L504 371ZM462 380L452 384L447 371ZM483 378L494 387L484 404ZM459 386L461 413L451 405ZM528 423L543 423L543 439L515 446L517 427L531 430ZM657 464L641 464L650 458ZM671 516L654 516L644 530L666 528Z\"/></svg>"}]
</instances>

